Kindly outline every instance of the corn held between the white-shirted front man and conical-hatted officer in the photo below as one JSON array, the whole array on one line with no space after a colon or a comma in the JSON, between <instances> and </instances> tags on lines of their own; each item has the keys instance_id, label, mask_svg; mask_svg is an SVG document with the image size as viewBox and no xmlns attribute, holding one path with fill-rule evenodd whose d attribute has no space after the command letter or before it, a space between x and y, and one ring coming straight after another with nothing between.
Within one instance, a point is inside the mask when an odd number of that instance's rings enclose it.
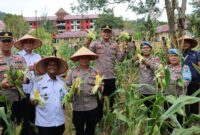
<instances>
[{"instance_id":1,"label":"corn held between the white-shirted front man and conical-hatted officer","mask_svg":"<svg viewBox=\"0 0 200 135\"><path fill-rule=\"evenodd\" d=\"M69 93L67 93L64 98L63 98L63 101L62 101L62 104L64 105L67 105L69 104L71 101L72 101L72 98L77 90L77 95L79 96L80 95L80 86L81 84L83 83L83 81L81 80L80 77L77 77L75 79L75 81L73 82L70 90L69 90Z\"/></svg>"}]
</instances>

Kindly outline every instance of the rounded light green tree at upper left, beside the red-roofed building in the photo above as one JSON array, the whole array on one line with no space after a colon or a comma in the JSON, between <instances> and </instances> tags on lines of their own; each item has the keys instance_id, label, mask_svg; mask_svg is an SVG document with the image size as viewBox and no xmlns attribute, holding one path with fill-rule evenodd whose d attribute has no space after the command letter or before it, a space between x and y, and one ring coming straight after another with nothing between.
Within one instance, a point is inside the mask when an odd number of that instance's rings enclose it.
<instances>
[{"instance_id":1,"label":"rounded light green tree at upper left, beside the red-roofed building","mask_svg":"<svg viewBox=\"0 0 200 135\"><path fill-rule=\"evenodd\" d=\"M29 25L23 16L6 14L3 18L5 31L11 31L16 38L20 38L28 33Z\"/></svg>"}]
</instances>

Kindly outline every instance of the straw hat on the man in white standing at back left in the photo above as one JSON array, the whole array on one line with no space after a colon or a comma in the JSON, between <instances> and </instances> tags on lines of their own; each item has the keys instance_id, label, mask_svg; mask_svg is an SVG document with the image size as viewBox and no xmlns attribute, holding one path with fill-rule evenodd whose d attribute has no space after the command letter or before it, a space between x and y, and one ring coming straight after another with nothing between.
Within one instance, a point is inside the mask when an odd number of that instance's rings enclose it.
<instances>
[{"instance_id":1,"label":"straw hat on the man in white standing at back left","mask_svg":"<svg viewBox=\"0 0 200 135\"><path fill-rule=\"evenodd\" d=\"M40 47L40 46L42 45L42 41L41 41L41 40L39 40L39 39L37 39L37 38L35 38L35 37L31 36L31 35L26 34L26 35L24 35L22 38L20 38L19 40L17 40L17 41L14 43L14 46L15 46L17 49L20 49L20 50L23 49L22 42L23 42L24 40L27 40L27 39L32 39L32 40L34 40L33 49L36 49L36 48L38 48L38 47Z\"/></svg>"}]
</instances>

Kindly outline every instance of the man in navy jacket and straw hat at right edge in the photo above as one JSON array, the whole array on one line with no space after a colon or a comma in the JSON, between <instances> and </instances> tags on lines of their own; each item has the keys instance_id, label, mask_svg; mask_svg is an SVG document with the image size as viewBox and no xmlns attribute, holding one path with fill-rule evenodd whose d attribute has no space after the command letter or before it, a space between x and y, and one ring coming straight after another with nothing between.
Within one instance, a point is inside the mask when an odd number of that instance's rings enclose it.
<instances>
[{"instance_id":1,"label":"man in navy jacket and straw hat at right edge","mask_svg":"<svg viewBox=\"0 0 200 135\"><path fill-rule=\"evenodd\" d=\"M189 37L183 36L179 39L179 43L183 44L184 64L190 67L192 73L192 81L187 88L187 95L192 95L200 88L200 74L197 72L193 64L200 67L200 52L192 50L198 45L198 42ZM199 114L199 103L195 103L186 107L186 112L189 114Z\"/></svg>"}]
</instances>

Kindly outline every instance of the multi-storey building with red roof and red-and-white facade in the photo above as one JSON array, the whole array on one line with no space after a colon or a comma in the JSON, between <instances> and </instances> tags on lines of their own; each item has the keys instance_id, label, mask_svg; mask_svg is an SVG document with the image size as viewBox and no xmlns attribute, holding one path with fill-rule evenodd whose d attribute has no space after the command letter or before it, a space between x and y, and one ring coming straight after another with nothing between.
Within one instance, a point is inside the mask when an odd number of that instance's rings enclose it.
<instances>
[{"instance_id":1,"label":"multi-storey building with red roof and red-and-white facade","mask_svg":"<svg viewBox=\"0 0 200 135\"><path fill-rule=\"evenodd\" d=\"M70 15L63 8L60 8L55 16L44 17L25 17L32 29L36 29L42 20L46 19L52 22L54 28L57 29L56 38L68 38L83 36L86 29L94 29L94 22L98 15ZM74 35L73 35L74 34Z\"/></svg>"}]
</instances>

